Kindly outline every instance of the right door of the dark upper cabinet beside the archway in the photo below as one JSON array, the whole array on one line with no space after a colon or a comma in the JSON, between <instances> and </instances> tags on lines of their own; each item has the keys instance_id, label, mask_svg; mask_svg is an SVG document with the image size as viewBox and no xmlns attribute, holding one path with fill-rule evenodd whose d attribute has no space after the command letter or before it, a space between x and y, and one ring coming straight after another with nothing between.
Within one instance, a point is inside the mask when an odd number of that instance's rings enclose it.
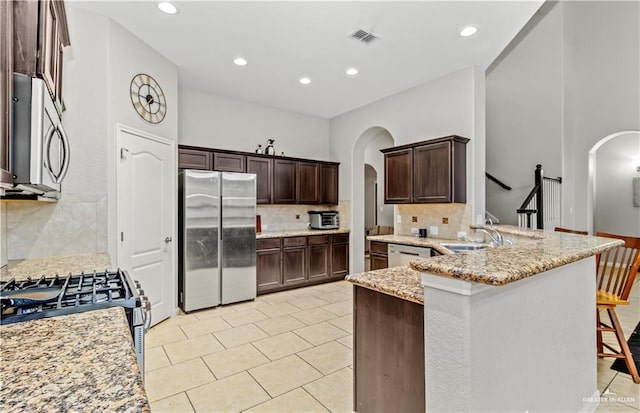
<instances>
[{"instance_id":1,"label":"right door of the dark upper cabinet beside the archway","mask_svg":"<svg viewBox=\"0 0 640 413\"><path fill-rule=\"evenodd\" d=\"M451 142L413 148L413 201L451 202Z\"/></svg>"}]
</instances>

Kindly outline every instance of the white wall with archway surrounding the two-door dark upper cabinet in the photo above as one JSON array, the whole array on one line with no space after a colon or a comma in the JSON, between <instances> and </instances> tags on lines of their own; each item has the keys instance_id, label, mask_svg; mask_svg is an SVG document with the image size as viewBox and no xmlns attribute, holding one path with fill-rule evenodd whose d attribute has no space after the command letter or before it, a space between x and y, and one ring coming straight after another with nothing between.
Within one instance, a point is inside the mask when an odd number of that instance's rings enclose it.
<instances>
[{"instance_id":1,"label":"white wall with archway surrounding the two-door dark upper cabinet","mask_svg":"<svg viewBox=\"0 0 640 413\"><path fill-rule=\"evenodd\" d=\"M474 187L472 182L484 174L484 88L484 72L468 68L331 119L331 155L341 162L340 199L351 200L352 272L364 269L364 243L359 236L364 231L364 191L355 185L363 182L366 143L382 129L395 145L451 134L470 138L467 202L483 213L484 186Z\"/></svg>"}]
</instances>

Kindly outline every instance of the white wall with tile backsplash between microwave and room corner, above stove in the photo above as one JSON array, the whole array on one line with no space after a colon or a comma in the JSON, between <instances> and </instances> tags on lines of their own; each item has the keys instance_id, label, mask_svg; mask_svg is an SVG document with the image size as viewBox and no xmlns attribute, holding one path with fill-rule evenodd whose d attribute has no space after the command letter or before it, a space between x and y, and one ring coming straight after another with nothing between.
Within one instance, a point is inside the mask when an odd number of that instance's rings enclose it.
<instances>
[{"instance_id":1,"label":"white wall with tile backsplash between microwave and room corner, above stove","mask_svg":"<svg viewBox=\"0 0 640 413\"><path fill-rule=\"evenodd\" d=\"M107 244L108 19L67 7L63 124L71 160L57 203L10 201L9 259L105 252Z\"/></svg>"}]
</instances>

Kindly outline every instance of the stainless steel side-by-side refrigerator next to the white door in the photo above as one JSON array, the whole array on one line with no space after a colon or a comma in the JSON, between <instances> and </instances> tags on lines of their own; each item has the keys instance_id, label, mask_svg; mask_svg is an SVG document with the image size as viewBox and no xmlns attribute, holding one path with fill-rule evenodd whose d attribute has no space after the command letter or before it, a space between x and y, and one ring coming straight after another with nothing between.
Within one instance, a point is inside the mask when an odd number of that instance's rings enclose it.
<instances>
[{"instance_id":1,"label":"stainless steel side-by-side refrigerator next to the white door","mask_svg":"<svg viewBox=\"0 0 640 413\"><path fill-rule=\"evenodd\" d=\"M256 297L256 175L185 169L178 179L178 304Z\"/></svg>"}]
</instances>

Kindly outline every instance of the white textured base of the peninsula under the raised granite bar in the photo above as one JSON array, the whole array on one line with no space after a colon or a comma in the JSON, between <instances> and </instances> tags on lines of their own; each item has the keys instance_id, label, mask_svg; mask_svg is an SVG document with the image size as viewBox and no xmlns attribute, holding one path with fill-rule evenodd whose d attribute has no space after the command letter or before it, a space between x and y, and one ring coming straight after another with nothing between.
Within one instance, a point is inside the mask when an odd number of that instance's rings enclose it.
<instances>
[{"instance_id":1,"label":"white textured base of the peninsula under the raised granite bar","mask_svg":"<svg viewBox=\"0 0 640 413\"><path fill-rule=\"evenodd\" d=\"M595 257L502 286L423 274L426 411L594 411Z\"/></svg>"}]
</instances>

